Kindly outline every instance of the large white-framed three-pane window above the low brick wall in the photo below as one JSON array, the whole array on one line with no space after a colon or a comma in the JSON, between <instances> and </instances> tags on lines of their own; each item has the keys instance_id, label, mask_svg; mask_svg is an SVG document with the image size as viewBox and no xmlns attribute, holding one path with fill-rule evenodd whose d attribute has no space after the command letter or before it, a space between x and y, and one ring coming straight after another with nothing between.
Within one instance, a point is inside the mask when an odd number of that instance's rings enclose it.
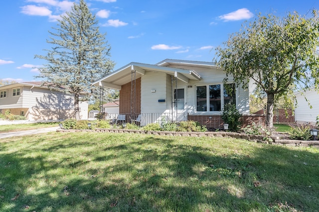
<instances>
[{"instance_id":1,"label":"large white-framed three-pane window above the low brick wall","mask_svg":"<svg viewBox=\"0 0 319 212\"><path fill-rule=\"evenodd\" d=\"M223 91L223 93L221 92ZM221 98L223 96L223 98ZM235 84L214 84L196 87L197 112L221 111L222 105L236 104Z\"/></svg>"}]
</instances>

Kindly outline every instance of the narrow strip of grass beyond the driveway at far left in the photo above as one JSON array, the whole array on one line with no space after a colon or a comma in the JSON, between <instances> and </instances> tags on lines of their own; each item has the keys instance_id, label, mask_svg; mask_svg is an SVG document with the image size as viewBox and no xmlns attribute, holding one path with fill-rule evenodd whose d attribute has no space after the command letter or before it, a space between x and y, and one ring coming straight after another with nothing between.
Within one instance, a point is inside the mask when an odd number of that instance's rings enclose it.
<instances>
[{"instance_id":1,"label":"narrow strip of grass beyond the driveway at far left","mask_svg":"<svg viewBox=\"0 0 319 212\"><path fill-rule=\"evenodd\" d=\"M34 130L39 128L56 127L56 126L59 126L58 122L0 125L0 133Z\"/></svg>"}]
</instances>

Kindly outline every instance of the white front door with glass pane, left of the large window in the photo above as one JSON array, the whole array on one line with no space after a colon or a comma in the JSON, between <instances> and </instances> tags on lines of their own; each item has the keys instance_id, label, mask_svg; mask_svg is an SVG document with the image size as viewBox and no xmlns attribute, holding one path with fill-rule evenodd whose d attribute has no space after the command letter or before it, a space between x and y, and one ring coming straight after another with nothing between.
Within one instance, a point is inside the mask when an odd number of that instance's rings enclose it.
<instances>
[{"instance_id":1,"label":"white front door with glass pane, left of the large window","mask_svg":"<svg viewBox=\"0 0 319 212\"><path fill-rule=\"evenodd\" d=\"M187 120L187 94L186 86L178 86L177 89L174 89L174 99L173 99L173 112L172 117L173 121L186 121Z\"/></svg>"}]
</instances>

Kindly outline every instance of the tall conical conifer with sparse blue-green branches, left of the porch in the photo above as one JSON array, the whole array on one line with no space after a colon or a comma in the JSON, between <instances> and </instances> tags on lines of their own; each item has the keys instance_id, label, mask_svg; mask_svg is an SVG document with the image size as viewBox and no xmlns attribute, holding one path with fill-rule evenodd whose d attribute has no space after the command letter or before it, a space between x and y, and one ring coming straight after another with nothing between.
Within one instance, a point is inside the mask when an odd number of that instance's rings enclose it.
<instances>
[{"instance_id":1,"label":"tall conical conifer with sparse blue-green branches, left of the porch","mask_svg":"<svg viewBox=\"0 0 319 212\"><path fill-rule=\"evenodd\" d=\"M47 43L52 44L45 50L47 64L39 68L37 77L44 78L45 84L64 88L74 95L74 115L80 119L79 101L81 93L98 96L99 88L92 82L105 76L114 68L109 59L111 47L105 41L106 34L99 32L95 19L84 0L74 3L71 10L58 20L57 27Z\"/></svg>"}]
</instances>

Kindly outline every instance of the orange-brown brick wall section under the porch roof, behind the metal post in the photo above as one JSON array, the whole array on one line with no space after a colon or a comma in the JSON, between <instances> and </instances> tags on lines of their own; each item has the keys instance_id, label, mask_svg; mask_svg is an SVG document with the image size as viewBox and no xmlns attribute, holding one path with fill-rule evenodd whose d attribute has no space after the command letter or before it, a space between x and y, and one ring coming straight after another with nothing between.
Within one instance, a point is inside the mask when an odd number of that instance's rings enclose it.
<instances>
[{"instance_id":1,"label":"orange-brown brick wall section under the porch roof, behind the metal post","mask_svg":"<svg viewBox=\"0 0 319 212\"><path fill-rule=\"evenodd\" d=\"M122 85L120 90L120 113L131 114L131 82ZM135 114L141 113L141 77L136 79L136 91L135 91ZM134 111L133 111L134 113Z\"/></svg>"}]
</instances>

